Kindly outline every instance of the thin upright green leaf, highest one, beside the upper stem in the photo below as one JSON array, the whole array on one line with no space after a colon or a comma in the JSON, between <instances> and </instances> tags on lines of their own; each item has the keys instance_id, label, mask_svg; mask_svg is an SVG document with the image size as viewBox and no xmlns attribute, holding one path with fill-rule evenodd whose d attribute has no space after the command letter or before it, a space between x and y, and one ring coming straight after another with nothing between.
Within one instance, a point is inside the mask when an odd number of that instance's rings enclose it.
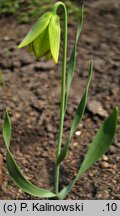
<instances>
[{"instance_id":1,"label":"thin upright green leaf, highest one, beside the upper stem","mask_svg":"<svg viewBox=\"0 0 120 216\"><path fill-rule=\"evenodd\" d=\"M71 53L69 64L68 64L67 80L66 80L66 95L65 95L65 111L67 108L67 98L68 98L68 94L69 94L69 89L70 89L70 85L71 85L71 82L73 80L74 71L75 71L76 50L77 50L78 39L79 39L81 30L82 30L82 25L83 25L83 14L84 14L84 6L82 6L82 9L81 9L81 16L80 16L78 29L77 29L76 40L75 40L75 44L74 44L74 47L72 49L72 53Z\"/></svg>"}]
</instances>

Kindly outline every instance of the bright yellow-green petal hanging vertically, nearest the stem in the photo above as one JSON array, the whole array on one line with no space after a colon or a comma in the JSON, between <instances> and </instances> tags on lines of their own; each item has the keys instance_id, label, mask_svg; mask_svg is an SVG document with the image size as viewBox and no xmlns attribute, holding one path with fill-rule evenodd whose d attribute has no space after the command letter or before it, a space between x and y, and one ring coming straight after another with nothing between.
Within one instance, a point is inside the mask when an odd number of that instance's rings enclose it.
<instances>
[{"instance_id":1,"label":"bright yellow-green petal hanging vertically, nearest the stem","mask_svg":"<svg viewBox=\"0 0 120 216\"><path fill-rule=\"evenodd\" d=\"M52 58L54 63L57 64L60 47L60 21L59 16L56 14L52 15L49 23L49 42Z\"/></svg>"}]
</instances>

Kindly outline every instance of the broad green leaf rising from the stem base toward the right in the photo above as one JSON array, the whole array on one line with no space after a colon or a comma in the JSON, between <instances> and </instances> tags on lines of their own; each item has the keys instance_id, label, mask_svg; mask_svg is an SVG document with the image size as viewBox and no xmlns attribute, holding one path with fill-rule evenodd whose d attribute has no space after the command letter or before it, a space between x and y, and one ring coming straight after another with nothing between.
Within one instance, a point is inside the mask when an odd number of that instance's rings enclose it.
<instances>
[{"instance_id":1,"label":"broad green leaf rising from the stem base toward the right","mask_svg":"<svg viewBox=\"0 0 120 216\"><path fill-rule=\"evenodd\" d=\"M108 150L116 133L117 119L118 109L115 108L95 135L77 176L58 194L59 199L65 199L76 181Z\"/></svg>"}]
</instances>

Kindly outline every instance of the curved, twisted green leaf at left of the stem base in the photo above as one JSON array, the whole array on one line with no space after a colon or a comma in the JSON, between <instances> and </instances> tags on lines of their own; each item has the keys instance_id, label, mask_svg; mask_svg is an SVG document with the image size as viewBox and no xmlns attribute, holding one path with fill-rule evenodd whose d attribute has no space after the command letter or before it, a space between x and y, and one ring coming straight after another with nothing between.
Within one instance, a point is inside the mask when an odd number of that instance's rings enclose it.
<instances>
[{"instance_id":1,"label":"curved, twisted green leaf at left of the stem base","mask_svg":"<svg viewBox=\"0 0 120 216\"><path fill-rule=\"evenodd\" d=\"M11 122L9 118L9 114L6 111L4 124L3 124L3 138L5 142L5 147L7 149L7 167L10 176L12 177L15 184L21 188L24 192L37 197L55 197L56 195L48 190L41 189L35 185L33 185L30 181L28 181L20 169L16 161L14 160L12 153L10 152L9 145L10 145L10 138L11 138Z\"/></svg>"}]
</instances>

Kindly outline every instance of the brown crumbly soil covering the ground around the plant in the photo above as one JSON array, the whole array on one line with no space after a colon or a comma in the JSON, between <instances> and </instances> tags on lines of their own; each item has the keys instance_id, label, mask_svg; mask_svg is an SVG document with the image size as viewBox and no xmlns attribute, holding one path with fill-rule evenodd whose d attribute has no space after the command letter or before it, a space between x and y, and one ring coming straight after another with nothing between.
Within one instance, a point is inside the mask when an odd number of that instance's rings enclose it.
<instances>
[{"instance_id":1,"label":"brown crumbly soil covering the ground around the plant","mask_svg":"<svg viewBox=\"0 0 120 216\"><path fill-rule=\"evenodd\" d=\"M120 4L90 3L79 40L75 78L65 117L63 143L80 101L88 75L88 61L94 59L94 73L85 117L74 135L69 154L61 166L60 187L72 179L99 125L120 106ZM0 125L9 109L13 127L11 147L19 166L34 184L52 188L55 149L58 138L61 58L52 62L36 59L17 44L30 25L18 25L12 17L0 20L0 68L6 88L0 85ZM69 22L68 54L76 23ZM95 104L95 105L93 105ZM92 107L92 108L91 108ZM99 112L99 108L101 112ZM113 145L77 182L67 199L120 199L120 125ZM33 199L14 185L6 169L6 149L0 131L0 153L4 157L0 199ZM36 199L36 198L35 198Z\"/></svg>"}]
</instances>

